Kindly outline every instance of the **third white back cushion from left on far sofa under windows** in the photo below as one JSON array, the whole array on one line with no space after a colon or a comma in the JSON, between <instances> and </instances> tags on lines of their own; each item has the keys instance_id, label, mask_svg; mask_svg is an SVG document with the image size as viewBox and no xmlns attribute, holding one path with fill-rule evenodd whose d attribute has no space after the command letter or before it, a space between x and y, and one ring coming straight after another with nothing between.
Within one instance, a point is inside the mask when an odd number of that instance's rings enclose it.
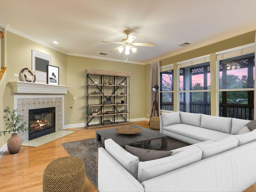
<instances>
[{"instance_id":1,"label":"third white back cushion from left on far sofa under windows","mask_svg":"<svg viewBox=\"0 0 256 192\"><path fill-rule=\"evenodd\" d=\"M201 127L223 133L231 133L232 118L201 115Z\"/></svg>"}]
</instances>

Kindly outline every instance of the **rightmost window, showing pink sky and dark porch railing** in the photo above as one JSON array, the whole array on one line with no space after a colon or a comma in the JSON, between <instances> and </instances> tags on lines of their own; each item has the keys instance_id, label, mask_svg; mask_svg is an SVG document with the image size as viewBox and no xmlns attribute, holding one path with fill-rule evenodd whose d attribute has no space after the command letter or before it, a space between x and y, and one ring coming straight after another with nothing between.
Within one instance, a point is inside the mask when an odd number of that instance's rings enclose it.
<instances>
[{"instance_id":1,"label":"rightmost window, showing pink sky and dark porch railing","mask_svg":"<svg viewBox=\"0 0 256 192\"><path fill-rule=\"evenodd\" d=\"M254 53L219 61L219 116L254 117Z\"/></svg>"}]
</instances>

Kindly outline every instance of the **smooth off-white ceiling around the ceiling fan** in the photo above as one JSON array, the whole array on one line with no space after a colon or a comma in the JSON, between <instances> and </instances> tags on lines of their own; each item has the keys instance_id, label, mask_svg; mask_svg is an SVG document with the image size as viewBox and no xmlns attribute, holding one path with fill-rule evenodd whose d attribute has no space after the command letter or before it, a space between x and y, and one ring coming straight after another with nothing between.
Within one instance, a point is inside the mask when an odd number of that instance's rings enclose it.
<instances>
[{"instance_id":1,"label":"smooth off-white ceiling around the ceiling fan","mask_svg":"<svg viewBox=\"0 0 256 192\"><path fill-rule=\"evenodd\" d=\"M134 42L155 43L128 55L144 64L255 30L256 0L0 0L0 26L65 54L121 61L124 52L109 52L120 45L101 41L121 42L130 30ZM191 44L178 46L184 42Z\"/></svg>"}]
</instances>

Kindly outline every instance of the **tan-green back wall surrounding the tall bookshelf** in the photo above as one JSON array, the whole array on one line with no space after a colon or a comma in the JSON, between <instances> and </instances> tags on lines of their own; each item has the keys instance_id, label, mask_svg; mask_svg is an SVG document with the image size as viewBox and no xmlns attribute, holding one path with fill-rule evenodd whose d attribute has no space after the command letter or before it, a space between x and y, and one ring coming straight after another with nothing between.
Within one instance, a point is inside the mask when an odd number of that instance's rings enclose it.
<instances>
[{"instance_id":1,"label":"tan-green back wall surrounding the tall bookshelf","mask_svg":"<svg viewBox=\"0 0 256 192\"><path fill-rule=\"evenodd\" d=\"M71 88L65 96L65 124L86 122L86 69L130 72L130 119L145 117L144 65L77 56L68 56L67 62L67 85Z\"/></svg>"}]
</instances>

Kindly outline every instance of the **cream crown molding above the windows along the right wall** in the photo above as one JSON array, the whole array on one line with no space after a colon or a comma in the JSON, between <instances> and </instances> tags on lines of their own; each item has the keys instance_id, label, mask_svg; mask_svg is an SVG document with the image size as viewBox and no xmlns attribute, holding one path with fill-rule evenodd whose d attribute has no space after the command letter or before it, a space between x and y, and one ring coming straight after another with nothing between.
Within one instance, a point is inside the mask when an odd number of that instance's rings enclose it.
<instances>
[{"instance_id":1,"label":"cream crown molding above the windows along the right wall","mask_svg":"<svg viewBox=\"0 0 256 192\"><path fill-rule=\"evenodd\" d=\"M153 62L153 61L156 61L156 60L163 60L163 59L166 59L166 58L178 55L178 54L182 54L182 53L185 53L185 52L188 52L188 51L192 51L192 50L195 50L195 49L198 49L198 48L202 48L204 46L208 46L210 44L214 44L216 42L220 42L220 41L223 41L223 40L226 40L226 39L238 36L238 35L242 35L242 34L245 34L245 33L251 32L251 31L255 31L255 30L256 30L256 25L250 26L248 28L244 28L244 29L235 31L235 32L232 32L232 33L229 33L229 34L226 34L226 35L223 35L223 36L220 36L220 37L217 37L217 38L214 38L214 39L211 39L211 40L199 43L199 44L196 44L194 46L189 45L188 47L186 47L182 50L172 52L170 54L167 54L167 55L164 55L162 57L156 58L154 60L149 60L146 63L150 63L150 62Z\"/></svg>"}]
</instances>

